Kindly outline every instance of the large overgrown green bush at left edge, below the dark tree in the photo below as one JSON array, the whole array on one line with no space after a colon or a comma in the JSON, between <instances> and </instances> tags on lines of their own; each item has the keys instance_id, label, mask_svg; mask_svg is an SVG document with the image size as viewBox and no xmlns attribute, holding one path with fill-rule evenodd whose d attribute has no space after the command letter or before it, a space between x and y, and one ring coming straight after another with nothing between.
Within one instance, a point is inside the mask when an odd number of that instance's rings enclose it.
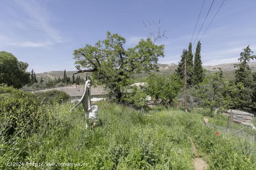
<instances>
[{"instance_id":1,"label":"large overgrown green bush at left edge, below the dark tree","mask_svg":"<svg viewBox=\"0 0 256 170\"><path fill-rule=\"evenodd\" d=\"M37 127L41 114L37 112L39 101L32 93L24 93L12 87L0 87L1 134L7 136L22 131L28 134Z\"/></svg>"}]
</instances>

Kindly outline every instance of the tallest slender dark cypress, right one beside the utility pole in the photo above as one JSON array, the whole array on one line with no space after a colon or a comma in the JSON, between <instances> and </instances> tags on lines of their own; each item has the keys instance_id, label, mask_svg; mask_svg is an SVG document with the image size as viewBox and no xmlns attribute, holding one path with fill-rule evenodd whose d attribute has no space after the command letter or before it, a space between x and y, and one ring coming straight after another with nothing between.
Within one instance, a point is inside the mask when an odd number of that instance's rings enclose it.
<instances>
[{"instance_id":1,"label":"tallest slender dark cypress, right one beside the utility pole","mask_svg":"<svg viewBox=\"0 0 256 170\"><path fill-rule=\"evenodd\" d=\"M195 50L195 61L194 61L194 73L193 73L193 85L198 85L203 79L203 68L201 61L201 43L198 41Z\"/></svg>"}]
</instances>

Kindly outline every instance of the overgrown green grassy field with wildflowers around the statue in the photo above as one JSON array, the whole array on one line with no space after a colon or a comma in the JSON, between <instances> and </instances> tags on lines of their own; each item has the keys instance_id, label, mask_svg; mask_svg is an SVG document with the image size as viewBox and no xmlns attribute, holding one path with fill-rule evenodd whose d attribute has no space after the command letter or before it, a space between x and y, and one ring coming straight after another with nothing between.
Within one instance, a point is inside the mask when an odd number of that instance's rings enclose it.
<instances>
[{"instance_id":1,"label":"overgrown green grassy field with wildflowers around the statue","mask_svg":"<svg viewBox=\"0 0 256 170\"><path fill-rule=\"evenodd\" d=\"M97 105L103 126L91 130L85 130L81 106L72 113L68 111L73 107L70 103L44 107L50 116L38 132L1 145L0 169L193 170L190 138L209 169L256 169L255 143L228 133L216 135L214 128L204 126L201 114L159 108L145 115L107 102ZM55 166L6 167L8 161Z\"/></svg>"}]
</instances>

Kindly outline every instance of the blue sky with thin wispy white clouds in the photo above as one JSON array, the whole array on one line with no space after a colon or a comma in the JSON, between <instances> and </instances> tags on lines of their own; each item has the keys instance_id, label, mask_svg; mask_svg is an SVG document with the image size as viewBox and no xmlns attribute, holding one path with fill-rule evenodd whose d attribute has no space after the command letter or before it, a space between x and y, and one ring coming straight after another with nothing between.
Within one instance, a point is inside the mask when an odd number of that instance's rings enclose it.
<instances>
[{"instance_id":1,"label":"blue sky with thin wispy white clouds","mask_svg":"<svg viewBox=\"0 0 256 170\"><path fill-rule=\"evenodd\" d=\"M75 70L73 51L106 32L119 33L132 47L148 36L142 22L161 19L168 28L165 57L178 63L187 48L203 0L0 0L0 51L13 53L36 73ZM212 0L205 0L194 39ZM215 0L199 39L222 0ZM237 62L248 44L256 51L256 0L226 0L202 38L203 65Z\"/></svg>"}]
</instances>

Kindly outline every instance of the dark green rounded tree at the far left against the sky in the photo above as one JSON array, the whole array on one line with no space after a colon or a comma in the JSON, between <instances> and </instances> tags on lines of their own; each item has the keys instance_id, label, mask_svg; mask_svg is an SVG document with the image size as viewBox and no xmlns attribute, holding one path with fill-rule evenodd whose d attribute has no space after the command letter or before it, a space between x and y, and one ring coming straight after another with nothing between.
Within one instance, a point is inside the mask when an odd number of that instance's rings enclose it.
<instances>
[{"instance_id":1,"label":"dark green rounded tree at the far left against the sky","mask_svg":"<svg viewBox=\"0 0 256 170\"><path fill-rule=\"evenodd\" d=\"M13 54L0 51L0 83L21 88L30 81L27 67L27 63L18 61Z\"/></svg>"}]
</instances>

